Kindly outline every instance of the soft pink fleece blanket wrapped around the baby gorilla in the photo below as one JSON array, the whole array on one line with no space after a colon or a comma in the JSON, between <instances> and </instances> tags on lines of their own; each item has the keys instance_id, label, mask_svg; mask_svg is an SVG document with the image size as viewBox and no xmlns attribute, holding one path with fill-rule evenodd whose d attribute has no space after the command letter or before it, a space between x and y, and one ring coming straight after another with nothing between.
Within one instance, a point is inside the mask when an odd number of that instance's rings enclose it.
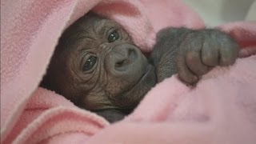
<instances>
[{"instance_id":1,"label":"soft pink fleece blanket wrapped around the baby gorilla","mask_svg":"<svg viewBox=\"0 0 256 144\"><path fill-rule=\"evenodd\" d=\"M119 22L144 52L164 26L204 26L179 0L2 0L1 143L256 142L255 22L219 27L242 47L234 66L215 68L195 89L167 78L110 125L38 88L60 34L89 10Z\"/></svg>"}]
</instances>

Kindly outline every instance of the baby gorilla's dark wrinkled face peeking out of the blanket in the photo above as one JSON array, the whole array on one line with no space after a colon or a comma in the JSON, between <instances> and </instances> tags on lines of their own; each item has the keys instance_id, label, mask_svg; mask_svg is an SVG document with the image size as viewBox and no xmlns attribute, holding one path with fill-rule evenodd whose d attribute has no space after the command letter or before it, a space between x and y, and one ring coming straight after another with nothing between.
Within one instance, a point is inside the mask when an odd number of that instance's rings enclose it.
<instances>
[{"instance_id":1,"label":"baby gorilla's dark wrinkled face peeking out of the blanket","mask_svg":"<svg viewBox=\"0 0 256 144\"><path fill-rule=\"evenodd\" d=\"M86 14L59 39L42 86L87 110L133 109L156 83L154 66L117 23Z\"/></svg>"}]
</instances>

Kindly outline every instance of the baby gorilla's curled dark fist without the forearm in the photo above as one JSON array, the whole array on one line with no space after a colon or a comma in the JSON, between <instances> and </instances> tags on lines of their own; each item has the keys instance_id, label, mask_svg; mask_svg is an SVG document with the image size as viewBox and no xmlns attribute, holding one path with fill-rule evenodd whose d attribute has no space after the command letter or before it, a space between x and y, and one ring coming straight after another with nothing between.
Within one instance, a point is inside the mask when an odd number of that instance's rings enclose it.
<instances>
[{"instance_id":1,"label":"baby gorilla's curled dark fist without the forearm","mask_svg":"<svg viewBox=\"0 0 256 144\"><path fill-rule=\"evenodd\" d=\"M238 44L219 30L194 30L179 47L178 76L183 82L195 84L212 67L233 64L238 50Z\"/></svg>"}]
</instances>

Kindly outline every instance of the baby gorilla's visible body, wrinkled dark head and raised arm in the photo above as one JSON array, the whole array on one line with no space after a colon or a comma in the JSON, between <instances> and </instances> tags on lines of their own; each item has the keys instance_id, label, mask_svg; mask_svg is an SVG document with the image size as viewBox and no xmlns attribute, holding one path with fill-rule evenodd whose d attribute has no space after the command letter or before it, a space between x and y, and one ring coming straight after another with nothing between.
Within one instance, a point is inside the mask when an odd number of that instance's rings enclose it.
<instances>
[{"instance_id":1,"label":"baby gorilla's visible body, wrinkled dark head and raised arm","mask_svg":"<svg viewBox=\"0 0 256 144\"><path fill-rule=\"evenodd\" d=\"M178 73L194 85L237 56L236 42L218 30L166 28L146 58L116 22L86 14L62 34L41 86L116 122L164 78Z\"/></svg>"}]
</instances>

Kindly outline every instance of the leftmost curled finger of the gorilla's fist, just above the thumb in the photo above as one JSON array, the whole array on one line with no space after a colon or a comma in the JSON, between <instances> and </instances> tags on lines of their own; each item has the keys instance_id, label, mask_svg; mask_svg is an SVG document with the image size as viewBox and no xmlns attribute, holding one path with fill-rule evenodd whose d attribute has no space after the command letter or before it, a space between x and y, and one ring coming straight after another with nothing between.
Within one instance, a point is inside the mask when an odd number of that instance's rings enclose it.
<instances>
[{"instance_id":1,"label":"leftmost curled finger of the gorilla's fist, just above the thumb","mask_svg":"<svg viewBox=\"0 0 256 144\"><path fill-rule=\"evenodd\" d=\"M209 71L208 66L202 63L200 51L189 51L186 53L186 65L196 75L200 76Z\"/></svg>"}]
</instances>

